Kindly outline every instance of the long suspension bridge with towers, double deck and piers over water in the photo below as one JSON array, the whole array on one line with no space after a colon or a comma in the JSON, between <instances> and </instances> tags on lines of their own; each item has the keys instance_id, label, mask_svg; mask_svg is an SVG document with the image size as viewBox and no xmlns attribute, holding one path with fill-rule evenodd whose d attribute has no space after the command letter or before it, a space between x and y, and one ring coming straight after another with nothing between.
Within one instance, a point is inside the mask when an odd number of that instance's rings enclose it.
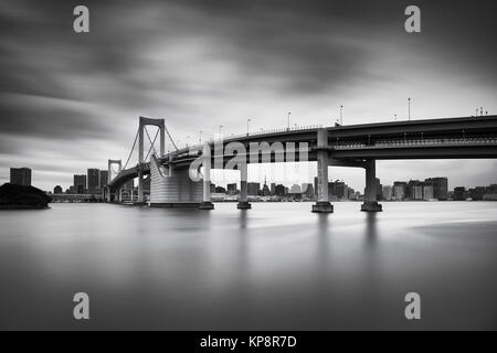
<instances>
[{"instance_id":1,"label":"long suspension bridge with towers, double deck and piers over water","mask_svg":"<svg viewBox=\"0 0 497 353\"><path fill-rule=\"evenodd\" d=\"M157 127L151 138L147 127ZM171 150L165 152L166 135ZM147 138L147 140L145 139ZM159 149L156 149L159 138ZM150 147L145 154L145 141ZM128 165L138 145L138 163ZM257 148L251 148L253 146ZM264 148L263 148L264 147ZM240 171L239 208L250 208L247 163L317 162L317 202L313 212L334 211L329 202L329 167L366 171L366 194L361 211L382 211L377 200L376 161L412 159L497 158L497 116L392 121L335 127L293 127L211 139L178 148L165 119L139 118L138 130L125 164L108 160L107 201L121 202L123 186L138 179L138 203L161 207L212 210L210 172L233 167ZM201 161L193 169L192 163ZM113 170L117 165L118 170ZM201 167L201 169L200 169ZM114 175L112 176L112 172ZM146 179L147 182L146 182ZM195 180L200 179L200 180ZM147 189L146 190L146 184ZM149 186L148 186L149 185ZM149 199L146 200L146 194Z\"/></svg>"}]
</instances>

